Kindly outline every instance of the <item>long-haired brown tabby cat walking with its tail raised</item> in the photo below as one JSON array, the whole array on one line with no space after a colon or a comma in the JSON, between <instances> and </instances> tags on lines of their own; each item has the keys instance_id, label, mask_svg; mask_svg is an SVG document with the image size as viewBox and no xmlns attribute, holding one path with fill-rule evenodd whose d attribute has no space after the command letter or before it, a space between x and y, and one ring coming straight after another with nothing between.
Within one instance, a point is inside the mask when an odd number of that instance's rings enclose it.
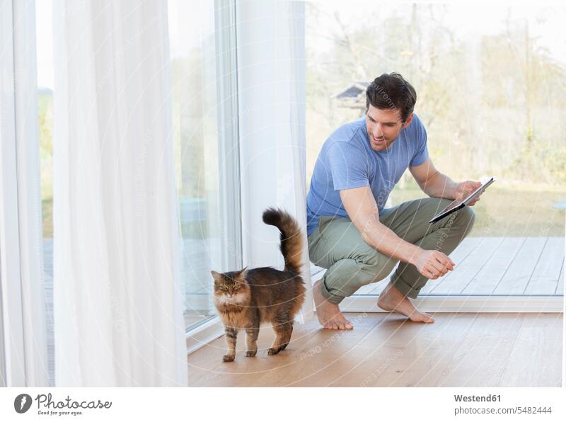
<instances>
[{"instance_id":1,"label":"long-haired brown tabby cat walking with its tail raised","mask_svg":"<svg viewBox=\"0 0 566 422\"><path fill-rule=\"evenodd\" d=\"M270 322L275 331L275 341L267 354L277 355L284 350L291 340L295 314L304 302L306 288L301 278L303 234L299 224L287 212L275 208L263 212L263 222L281 232L284 270L262 267L228 273L212 271L214 306L224 323L228 345L224 362L236 358L236 337L240 329L246 330L246 356L253 357L258 353L257 340L262 322Z\"/></svg>"}]
</instances>

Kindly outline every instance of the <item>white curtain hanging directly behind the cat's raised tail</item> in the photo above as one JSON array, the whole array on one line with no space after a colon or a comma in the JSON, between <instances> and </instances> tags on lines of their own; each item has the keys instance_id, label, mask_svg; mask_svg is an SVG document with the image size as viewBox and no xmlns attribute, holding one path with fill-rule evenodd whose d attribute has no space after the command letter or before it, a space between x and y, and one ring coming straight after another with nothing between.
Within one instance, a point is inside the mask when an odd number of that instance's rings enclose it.
<instances>
[{"instance_id":1,"label":"white curtain hanging directly behind the cat's raised tail","mask_svg":"<svg viewBox=\"0 0 566 422\"><path fill-rule=\"evenodd\" d=\"M279 234L261 216L274 205L294 215L305 232L308 319L313 302L306 247L304 2L238 1L236 30L243 262L282 268Z\"/></svg>"}]
</instances>

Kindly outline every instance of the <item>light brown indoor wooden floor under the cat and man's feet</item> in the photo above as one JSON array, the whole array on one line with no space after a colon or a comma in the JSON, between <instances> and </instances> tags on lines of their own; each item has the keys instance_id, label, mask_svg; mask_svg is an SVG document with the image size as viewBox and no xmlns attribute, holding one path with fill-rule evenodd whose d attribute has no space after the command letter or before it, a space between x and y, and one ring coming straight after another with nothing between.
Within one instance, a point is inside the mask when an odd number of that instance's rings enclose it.
<instances>
[{"instance_id":1,"label":"light brown indoor wooden floor under the cat and man's feet","mask_svg":"<svg viewBox=\"0 0 566 422\"><path fill-rule=\"evenodd\" d=\"M296 326L287 350L233 363L224 338L188 357L190 387L560 387L562 314L437 314L417 324L387 314L349 314L352 331Z\"/></svg>"}]
</instances>

